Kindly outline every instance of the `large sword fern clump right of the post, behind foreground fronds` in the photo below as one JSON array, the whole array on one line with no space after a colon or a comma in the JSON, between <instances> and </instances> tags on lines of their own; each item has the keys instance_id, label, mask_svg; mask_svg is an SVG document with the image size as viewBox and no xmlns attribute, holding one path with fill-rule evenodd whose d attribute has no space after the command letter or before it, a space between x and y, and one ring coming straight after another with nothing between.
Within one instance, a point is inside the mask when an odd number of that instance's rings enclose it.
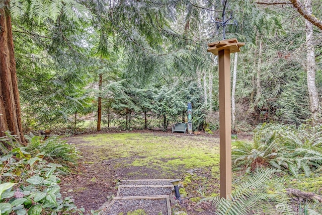
<instances>
[{"instance_id":1,"label":"large sword fern clump right of the post, behind foreground fronds","mask_svg":"<svg viewBox=\"0 0 322 215\"><path fill-rule=\"evenodd\" d=\"M253 142L236 142L233 163L236 168L254 171L259 167L274 167L293 174L322 169L320 126L296 127L294 125L263 124L254 130ZM312 133L313 132L313 133Z\"/></svg>"}]
</instances>

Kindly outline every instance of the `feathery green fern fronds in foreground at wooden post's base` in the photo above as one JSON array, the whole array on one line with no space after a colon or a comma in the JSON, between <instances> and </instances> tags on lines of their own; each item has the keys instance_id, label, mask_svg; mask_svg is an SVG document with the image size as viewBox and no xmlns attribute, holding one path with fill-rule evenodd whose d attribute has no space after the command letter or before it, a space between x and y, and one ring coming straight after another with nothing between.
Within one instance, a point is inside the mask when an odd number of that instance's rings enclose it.
<instances>
[{"instance_id":1,"label":"feathery green fern fronds in foreground at wooden post's base","mask_svg":"<svg viewBox=\"0 0 322 215\"><path fill-rule=\"evenodd\" d=\"M290 200L286 194L269 194L265 191L265 183L277 172L279 170L272 168L261 169L246 182L241 183L226 199L215 196L203 198L200 202L211 202L216 208L215 214L218 215L251 214L254 212L256 214L295 214L288 206Z\"/></svg>"}]
</instances>

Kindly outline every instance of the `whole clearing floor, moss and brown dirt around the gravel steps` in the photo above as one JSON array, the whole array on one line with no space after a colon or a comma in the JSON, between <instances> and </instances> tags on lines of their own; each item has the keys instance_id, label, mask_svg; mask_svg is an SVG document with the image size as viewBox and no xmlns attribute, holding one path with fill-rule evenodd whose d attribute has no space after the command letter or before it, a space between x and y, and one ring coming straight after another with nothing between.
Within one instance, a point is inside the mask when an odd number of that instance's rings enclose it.
<instances>
[{"instance_id":1,"label":"whole clearing floor, moss and brown dirt around the gravel steps","mask_svg":"<svg viewBox=\"0 0 322 215\"><path fill-rule=\"evenodd\" d=\"M251 138L238 135L238 139ZM210 204L196 204L219 193L218 133L132 131L73 136L67 141L77 147L82 159L76 171L62 179L61 189L87 212L116 196L118 180L181 178L183 203L173 205L173 210L211 214Z\"/></svg>"}]
</instances>

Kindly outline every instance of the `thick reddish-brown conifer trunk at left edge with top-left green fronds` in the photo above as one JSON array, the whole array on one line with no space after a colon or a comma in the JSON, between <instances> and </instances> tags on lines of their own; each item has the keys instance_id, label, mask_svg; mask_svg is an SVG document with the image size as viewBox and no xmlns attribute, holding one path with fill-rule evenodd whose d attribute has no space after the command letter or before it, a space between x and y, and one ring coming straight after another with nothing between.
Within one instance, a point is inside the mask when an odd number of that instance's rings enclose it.
<instances>
[{"instance_id":1,"label":"thick reddish-brown conifer trunk at left edge with top-left green fronds","mask_svg":"<svg viewBox=\"0 0 322 215\"><path fill-rule=\"evenodd\" d=\"M84 7L68 1L6 0L0 3L0 136L9 130L25 144L21 123L21 108L14 51L12 16L29 15L38 24L47 19L56 21L61 12L70 20L77 21L75 13L83 14Z\"/></svg>"}]
</instances>

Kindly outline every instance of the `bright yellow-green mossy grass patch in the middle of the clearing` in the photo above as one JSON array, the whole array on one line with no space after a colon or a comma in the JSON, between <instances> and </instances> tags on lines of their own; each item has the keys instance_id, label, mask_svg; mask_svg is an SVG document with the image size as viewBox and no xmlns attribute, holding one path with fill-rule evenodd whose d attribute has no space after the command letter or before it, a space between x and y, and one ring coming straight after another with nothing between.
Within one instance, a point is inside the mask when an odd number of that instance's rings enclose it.
<instances>
[{"instance_id":1,"label":"bright yellow-green mossy grass patch in the middle of the clearing","mask_svg":"<svg viewBox=\"0 0 322 215\"><path fill-rule=\"evenodd\" d=\"M213 173L219 168L218 142L208 138L149 133L94 134L80 138L84 141L83 146L99 148L93 153L101 161L135 158L130 163L123 163L124 166L155 167L162 171L212 167Z\"/></svg>"}]
</instances>

